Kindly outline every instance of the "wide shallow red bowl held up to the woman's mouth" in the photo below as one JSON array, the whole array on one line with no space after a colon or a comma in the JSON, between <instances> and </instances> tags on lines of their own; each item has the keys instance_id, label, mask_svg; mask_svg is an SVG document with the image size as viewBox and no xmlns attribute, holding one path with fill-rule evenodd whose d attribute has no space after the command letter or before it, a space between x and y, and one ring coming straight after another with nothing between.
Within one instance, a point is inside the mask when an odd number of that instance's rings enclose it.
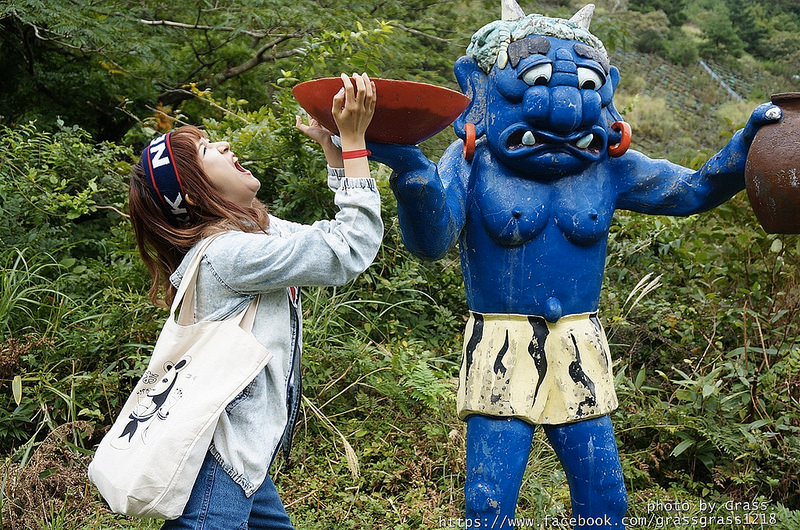
<instances>
[{"instance_id":1,"label":"wide shallow red bowl held up to the woman's mouth","mask_svg":"<svg viewBox=\"0 0 800 530\"><path fill-rule=\"evenodd\" d=\"M427 83L373 81L378 101L366 132L367 140L373 142L418 144L453 123L470 101L460 92ZM341 78L325 77L300 83L292 89L292 94L310 116L328 130L338 132L331 106L340 88Z\"/></svg>"}]
</instances>

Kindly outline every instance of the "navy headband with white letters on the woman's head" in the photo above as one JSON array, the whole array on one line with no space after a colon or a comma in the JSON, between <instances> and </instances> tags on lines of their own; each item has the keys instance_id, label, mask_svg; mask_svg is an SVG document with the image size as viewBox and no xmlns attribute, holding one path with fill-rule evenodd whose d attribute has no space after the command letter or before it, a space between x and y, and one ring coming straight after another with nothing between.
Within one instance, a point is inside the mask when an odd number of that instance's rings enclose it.
<instances>
[{"instance_id":1,"label":"navy headband with white letters on the woman's head","mask_svg":"<svg viewBox=\"0 0 800 530\"><path fill-rule=\"evenodd\" d=\"M178 168L170 143L171 132L161 135L148 145L142 153L142 167L147 177L147 185L158 197L164 213L170 220L186 222L189 220L189 205L183 191Z\"/></svg>"}]
</instances>

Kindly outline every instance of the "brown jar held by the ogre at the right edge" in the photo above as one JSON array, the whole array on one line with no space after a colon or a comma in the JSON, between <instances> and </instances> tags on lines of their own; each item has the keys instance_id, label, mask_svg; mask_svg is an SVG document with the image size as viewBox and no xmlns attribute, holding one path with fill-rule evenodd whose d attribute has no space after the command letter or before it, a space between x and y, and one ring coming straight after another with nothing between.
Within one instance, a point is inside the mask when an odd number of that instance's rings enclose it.
<instances>
[{"instance_id":1,"label":"brown jar held by the ogre at the right edge","mask_svg":"<svg viewBox=\"0 0 800 530\"><path fill-rule=\"evenodd\" d=\"M774 94L781 121L756 133L747 155L750 204L770 234L800 233L800 92Z\"/></svg>"}]
</instances>

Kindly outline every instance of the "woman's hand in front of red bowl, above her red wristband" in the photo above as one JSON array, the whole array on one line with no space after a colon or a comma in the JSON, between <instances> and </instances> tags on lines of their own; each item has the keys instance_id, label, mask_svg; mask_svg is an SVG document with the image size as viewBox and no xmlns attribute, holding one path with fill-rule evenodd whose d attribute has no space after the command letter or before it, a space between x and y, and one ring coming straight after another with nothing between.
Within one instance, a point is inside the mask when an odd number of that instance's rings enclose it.
<instances>
[{"instance_id":1,"label":"woman's hand in front of red bowl, above her red wristband","mask_svg":"<svg viewBox=\"0 0 800 530\"><path fill-rule=\"evenodd\" d=\"M375 113L375 83L367 74L353 74L355 87L350 77L342 74L342 89L333 97L333 119L339 128L342 148L362 149L364 132Z\"/></svg>"}]
</instances>

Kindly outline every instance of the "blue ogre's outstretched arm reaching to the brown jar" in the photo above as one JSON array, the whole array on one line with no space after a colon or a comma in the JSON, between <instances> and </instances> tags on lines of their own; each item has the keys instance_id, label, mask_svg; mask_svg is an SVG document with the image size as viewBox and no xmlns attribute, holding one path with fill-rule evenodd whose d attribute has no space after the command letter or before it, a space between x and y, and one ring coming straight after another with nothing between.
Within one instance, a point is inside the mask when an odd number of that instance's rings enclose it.
<instances>
[{"instance_id":1,"label":"blue ogre's outstretched arm reaching to the brown jar","mask_svg":"<svg viewBox=\"0 0 800 530\"><path fill-rule=\"evenodd\" d=\"M773 105L760 105L747 125L697 170L653 160L636 151L611 162L617 208L666 215L691 215L718 206L744 188L747 152L758 128L775 121Z\"/></svg>"}]
</instances>

